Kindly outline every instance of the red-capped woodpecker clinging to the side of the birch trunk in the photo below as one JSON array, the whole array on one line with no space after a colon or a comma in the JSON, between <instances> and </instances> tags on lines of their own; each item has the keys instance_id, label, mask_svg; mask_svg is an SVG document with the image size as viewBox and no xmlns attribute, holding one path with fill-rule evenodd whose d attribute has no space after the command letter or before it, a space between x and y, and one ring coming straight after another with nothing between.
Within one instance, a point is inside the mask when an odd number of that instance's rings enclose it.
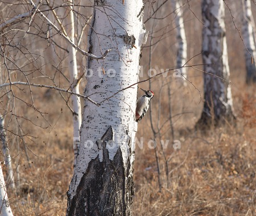
<instances>
[{"instance_id":1,"label":"red-capped woodpecker clinging to the side of the birch trunk","mask_svg":"<svg viewBox=\"0 0 256 216\"><path fill-rule=\"evenodd\" d=\"M147 112L147 109L150 106L150 100L154 97L154 92L150 90L146 91L146 90L143 90L142 88L141 90L144 91L146 95L141 96L141 98L137 100L137 107L135 111L137 122L142 120L142 118Z\"/></svg>"}]
</instances>

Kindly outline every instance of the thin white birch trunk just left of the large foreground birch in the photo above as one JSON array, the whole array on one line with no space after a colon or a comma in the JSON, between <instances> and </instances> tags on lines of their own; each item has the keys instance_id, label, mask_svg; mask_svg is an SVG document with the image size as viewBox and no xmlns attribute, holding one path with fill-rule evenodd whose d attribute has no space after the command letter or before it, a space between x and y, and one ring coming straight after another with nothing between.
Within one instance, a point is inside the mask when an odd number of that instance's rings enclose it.
<instances>
[{"instance_id":1,"label":"thin white birch trunk just left of the large foreground birch","mask_svg":"<svg viewBox=\"0 0 256 216\"><path fill-rule=\"evenodd\" d=\"M71 11L69 12L71 32L70 39L75 44L75 23L74 23L74 12L73 12L73 1L71 3ZM69 68L69 81L71 84L71 91L79 94L79 82L78 82L78 71L76 61L76 49L72 45L68 45L68 68ZM80 98L77 95L72 95L73 103L73 149L74 149L74 166L76 166L77 150L80 143L80 126L82 122L82 111Z\"/></svg>"}]
</instances>

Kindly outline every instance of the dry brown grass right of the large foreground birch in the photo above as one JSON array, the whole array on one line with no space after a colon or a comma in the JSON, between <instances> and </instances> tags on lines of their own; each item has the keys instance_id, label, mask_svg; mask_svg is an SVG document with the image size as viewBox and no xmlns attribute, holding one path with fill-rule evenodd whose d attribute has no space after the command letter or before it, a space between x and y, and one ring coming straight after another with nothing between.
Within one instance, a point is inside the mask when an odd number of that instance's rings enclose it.
<instances>
[{"instance_id":1,"label":"dry brown grass right of the large foreground birch","mask_svg":"<svg viewBox=\"0 0 256 216\"><path fill-rule=\"evenodd\" d=\"M238 95L237 126L227 124L207 133L177 130L181 149L176 151L171 145L162 151L158 143L160 173L155 151L137 149L134 215L255 215L256 95L252 88ZM144 124L149 130L139 132L142 136L151 133L150 125ZM168 185L163 154L171 157Z\"/></svg>"}]
</instances>

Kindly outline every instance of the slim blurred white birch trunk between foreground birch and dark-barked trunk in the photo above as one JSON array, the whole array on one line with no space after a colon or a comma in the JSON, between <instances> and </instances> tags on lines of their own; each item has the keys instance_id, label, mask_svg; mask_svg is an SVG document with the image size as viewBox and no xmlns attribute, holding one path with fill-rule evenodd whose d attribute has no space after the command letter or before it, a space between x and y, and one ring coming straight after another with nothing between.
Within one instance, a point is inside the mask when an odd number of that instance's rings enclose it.
<instances>
[{"instance_id":1,"label":"slim blurred white birch trunk between foreground birch and dark-barked trunk","mask_svg":"<svg viewBox=\"0 0 256 216\"><path fill-rule=\"evenodd\" d=\"M180 0L172 0L172 7L175 11L176 39L177 39L177 59L176 67L179 68L177 77L181 77L184 81L187 78L187 67L182 67L187 61L187 39L185 35L185 27L183 20L183 9Z\"/></svg>"}]
</instances>

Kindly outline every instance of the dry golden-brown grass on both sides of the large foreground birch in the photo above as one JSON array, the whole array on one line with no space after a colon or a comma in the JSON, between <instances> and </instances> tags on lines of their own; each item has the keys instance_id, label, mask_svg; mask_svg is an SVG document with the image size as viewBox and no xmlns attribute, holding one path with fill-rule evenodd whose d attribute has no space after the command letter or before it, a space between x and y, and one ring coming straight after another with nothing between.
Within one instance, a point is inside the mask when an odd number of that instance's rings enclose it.
<instances>
[{"instance_id":1,"label":"dry golden-brown grass on both sides of the large foreground birch","mask_svg":"<svg viewBox=\"0 0 256 216\"><path fill-rule=\"evenodd\" d=\"M175 124L181 149L174 150L170 142L162 150L158 143L160 172L155 150L147 146L152 133L149 116L145 117L137 133L138 138L143 137L144 146L136 149L133 215L255 215L256 95L251 91L253 87L243 88L246 94L234 94L234 101L240 101L235 106L236 127L226 125L207 133L195 132L188 125L195 124L200 115L200 109L195 107L201 104L187 107L195 112L190 117L177 118ZM54 98L59 100L57 95ZM61 111L61 103L51 99L48 103L48 111L55 106L48 116L51 127L30 129L39 137L28 146L30 161L24 148L13 159L20 172L18 195L9 189L15 215L65 215L65 193L72 177L72 118L66 109ZM164 112L166 109L163 107ZM179 108L175 112L178 111ZM168 125L162 138L171 139ZM170 158L168 183L164 155Z\"/></svg>"}]
</instances>

